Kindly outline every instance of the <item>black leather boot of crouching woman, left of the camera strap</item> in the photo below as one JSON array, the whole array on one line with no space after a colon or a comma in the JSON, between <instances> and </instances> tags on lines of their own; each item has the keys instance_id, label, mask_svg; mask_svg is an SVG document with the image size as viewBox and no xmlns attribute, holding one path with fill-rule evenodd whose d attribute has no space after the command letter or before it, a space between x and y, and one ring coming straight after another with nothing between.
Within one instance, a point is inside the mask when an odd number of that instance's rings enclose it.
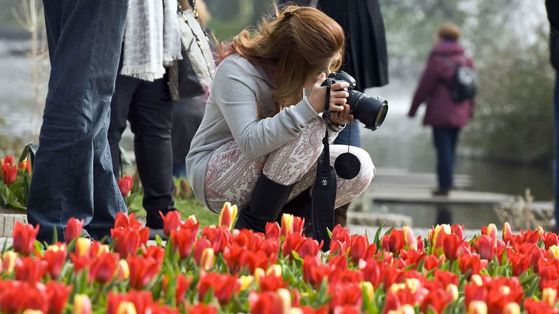
<instances>
[{"instance_id":1,"label":"black leather boot of crouching woman, left of the camera strap","mask_svg":"<svg viewBox=\"0 0 559 314\"><path fill-rule=\"evenodd\" d=\"M235 229L252 229L256 232L266 231L266 222L276 221L293 189L293 185L282 185L260 174L249 207L241 210Z\"/></svg>"}]
</instances>

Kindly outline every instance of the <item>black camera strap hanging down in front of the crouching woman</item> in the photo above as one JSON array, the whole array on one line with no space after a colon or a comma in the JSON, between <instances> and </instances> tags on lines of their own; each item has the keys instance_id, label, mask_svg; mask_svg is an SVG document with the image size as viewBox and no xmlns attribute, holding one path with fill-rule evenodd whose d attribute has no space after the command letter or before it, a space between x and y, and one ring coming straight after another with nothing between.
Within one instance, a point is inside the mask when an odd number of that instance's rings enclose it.
<instances>
[{"instance_id":1,"label":"black camera strap hanging down in front of the crouching woman","mask_svg":"<svg viewBox=\"0 0 559 314\"><path fill-rule=\"evenodd\" d=\"M326 103L324 115L326 125L330 121L330 89L332 82L326 80ZM334 228L334 206L336 201L337 178L336 170L330 165L330 145L328 143L328 126L322 140L324 149L318 159L316 167L315 185L311 196L311 220L314 239L324 241L323 251L330 249L330 236L328 230Z\"/></svg>"}]
</instances>

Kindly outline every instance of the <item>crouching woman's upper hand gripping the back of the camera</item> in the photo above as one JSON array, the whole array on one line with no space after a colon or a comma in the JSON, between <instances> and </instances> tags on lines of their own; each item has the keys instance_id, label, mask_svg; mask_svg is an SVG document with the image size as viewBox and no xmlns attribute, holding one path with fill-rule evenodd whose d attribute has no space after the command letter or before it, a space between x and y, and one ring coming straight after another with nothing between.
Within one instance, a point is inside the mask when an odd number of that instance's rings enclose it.
<instances>
[{"instance_id":1,"label":"crouching woman's upper hand gripping the back of the camera","mask_svg":"<svg viewBox=\"0 0 559 314\"><path fill-rule=\"evenodd\" d=\"M309 97L307 97L307 101L309 101L311 107L318 113L324 112L324 104L326 102L326 87L320 86L324 80L326 80L326 74L320 74L320 78L316 83L312 85L311 92ZM340 82L335 83L330 88L330 111L333 114L330 117L337 116L337 112L343 111L343 115L339 115L340 119L346 117L345 115L345 103L347 103L347 98L349 97L349 93L345 91L338 91L338 89L347 88L349 87L349 83L347 82ZM336 92L338 91L338 92ZM349 108L349 106L348 106ZM335 111L335 112L334 112ZM349 109L347 112L347 118L349 119ZM340 120L341 121L341 120ZM332 120L332 122L335 122ZM349 120L348 120L349 122ZM342 124L344 124L343 122Z\"/></svg>"}]
</instances>

